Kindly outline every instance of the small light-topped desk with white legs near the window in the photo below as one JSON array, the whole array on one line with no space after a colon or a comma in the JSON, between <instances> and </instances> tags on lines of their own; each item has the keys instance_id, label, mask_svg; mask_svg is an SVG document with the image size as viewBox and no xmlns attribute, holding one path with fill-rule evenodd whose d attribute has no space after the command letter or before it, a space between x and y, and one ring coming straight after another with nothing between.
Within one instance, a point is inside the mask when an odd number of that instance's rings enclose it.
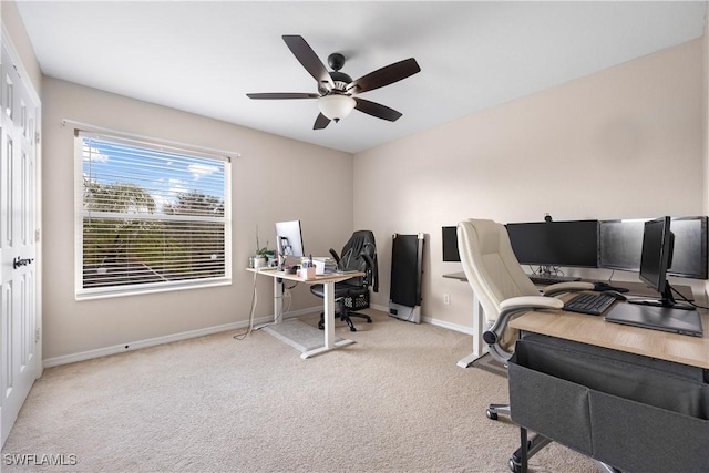
<instances>
[{"instance_id":1,"label":"small light-topped desk with white legs near the window","mask_svg":"<svg viewBox=\"0 0 709 473\"><path fill-rule=\"evenodd\" d=\"M325 297L322 298L322 304L325 306L325 345L320 348L302 352L300 358L307 359L315 357L316 354L325 353L326 351L335 350L336 348L354 343L354 340L349 339L339 341L335 340L335 284L350 278L366 276L364 273L320 275L316 276L315 279L304 279L298 275L278 271L275 268L246 268L246 270L256 273L257 275L268 276L274 279L274 322L278 321L278 315L282 311L282 280L304 282L308 285L321 284L325 288Z\"/></svg>"}]
</instances>

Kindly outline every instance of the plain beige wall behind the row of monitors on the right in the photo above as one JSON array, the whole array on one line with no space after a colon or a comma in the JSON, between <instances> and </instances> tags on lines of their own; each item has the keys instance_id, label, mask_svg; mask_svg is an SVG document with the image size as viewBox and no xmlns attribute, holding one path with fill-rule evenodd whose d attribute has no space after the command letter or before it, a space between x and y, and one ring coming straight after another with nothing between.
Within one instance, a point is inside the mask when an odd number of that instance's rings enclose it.
<instances>
[{"instance_id":1,"label":"plain beige wall behind the row of monitors on the right","mask_svg":"<svg viewBox=\"0 0 709 473\"><path fill-rule=\"evenodd\" d=\"M700 215L701 97L696 40L360 153L354 227L374 230L381 268L392 234L428 234L422 315L470 328L470 288L442 278L462 267L442 263L441 226ZM389 282L384 269L374 304Z\"/></svg>"}]
</instances>

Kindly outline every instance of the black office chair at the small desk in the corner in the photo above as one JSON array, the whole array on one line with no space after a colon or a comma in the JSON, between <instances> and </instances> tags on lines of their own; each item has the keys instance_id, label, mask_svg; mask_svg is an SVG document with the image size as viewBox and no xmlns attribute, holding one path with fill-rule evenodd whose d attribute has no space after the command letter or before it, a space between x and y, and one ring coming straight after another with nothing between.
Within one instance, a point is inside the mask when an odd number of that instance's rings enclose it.
<instances>
[{"instance_id":1,"label":"black office chair at the small desk in the corner","mask_svg":"<svg viewBox=\"0 0 709 473\"><path fill-rule=\"evenodd\" d=\"M357 230L342 248L341 257L337 251L330 248L330 254L337 261L339 270L357 270L364 273L363 277L350 278L341 282L335 284L335 300L338 304L336 317L347 322L350 331L357 331L351 317L360 317L371 323L371 317L354 312L345 306L345 299L350 298L352 308L358 297L369 292L371 287L374 292L379 292L379 269L377 266L377 245L374 243L374 234L370 230ZM310 292L318 297L325 297L322 285L310 286ZM318 328L325 328L325 313L320 315Z\"/></svg>"}]
</instances>

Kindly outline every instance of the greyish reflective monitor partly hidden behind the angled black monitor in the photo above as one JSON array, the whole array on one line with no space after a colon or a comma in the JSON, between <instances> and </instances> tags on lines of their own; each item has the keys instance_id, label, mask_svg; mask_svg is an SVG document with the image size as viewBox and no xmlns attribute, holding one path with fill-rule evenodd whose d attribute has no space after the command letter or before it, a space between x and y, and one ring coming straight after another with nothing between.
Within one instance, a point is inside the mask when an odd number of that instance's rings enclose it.
<instances>
[{"instance_id":1,"label":"greyish reflective monitor partly hidden behind the angled black monitor","mask_svg":"<svg viewBox=\"0 0 709 473\"><path fill-rule=\"evenodd\" d=\"M639 271L643 250L643 219L600 220L598 223L598 267ZM670 276L708 278L708 217L672 217L675 249Z\"/></svg>"}]
</instances>

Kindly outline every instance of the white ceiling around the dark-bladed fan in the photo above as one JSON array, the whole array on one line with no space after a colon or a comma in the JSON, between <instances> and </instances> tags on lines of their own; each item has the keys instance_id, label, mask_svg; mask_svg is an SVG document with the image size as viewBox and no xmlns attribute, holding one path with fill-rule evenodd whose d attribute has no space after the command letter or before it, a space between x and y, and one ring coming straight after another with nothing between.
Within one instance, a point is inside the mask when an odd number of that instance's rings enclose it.
<instances>
[{"instance_id":1,"label":"white ceiling around the dark-bladed fan","mask_svg":"<svg viewBox=\"0 0 709 473\"><path fill-rule=\"evenodd\" d=\"M360 152L701 37L706 1L30 1L18 9L45 75L304 142ZM403 113L314 131L316 93L284 43L300 34L353 79L415 58L362 93Z\"/></svg>"}]
</instances>

